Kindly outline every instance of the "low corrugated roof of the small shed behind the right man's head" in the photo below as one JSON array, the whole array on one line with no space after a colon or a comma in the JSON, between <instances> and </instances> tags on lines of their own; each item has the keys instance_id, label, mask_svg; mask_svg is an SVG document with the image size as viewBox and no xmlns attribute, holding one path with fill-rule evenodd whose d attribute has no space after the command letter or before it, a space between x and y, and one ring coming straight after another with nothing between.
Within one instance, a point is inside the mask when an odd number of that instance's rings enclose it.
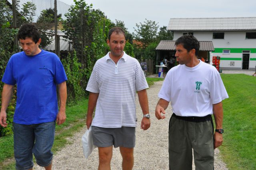
<instances>
[{"instance_id":1,"label":"low corrugated roof of the small shed behind the right man's head","mask_svg":"<svg viewBox=\"0 0 256 170\"><path fill-rule=\"evenodd\" d=\"M214 51L211 41L199 41L199 51ZM162 40L156 47L156 50L175 50L175 41Z\"/></svg>"}]
</instances>

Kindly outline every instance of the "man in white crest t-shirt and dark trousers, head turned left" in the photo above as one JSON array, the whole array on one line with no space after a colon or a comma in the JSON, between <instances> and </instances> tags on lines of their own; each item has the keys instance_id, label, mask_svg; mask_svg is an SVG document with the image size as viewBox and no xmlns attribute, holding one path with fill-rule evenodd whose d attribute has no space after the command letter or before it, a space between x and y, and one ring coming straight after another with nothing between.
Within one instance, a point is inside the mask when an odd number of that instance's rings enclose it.
<instances>
[{"instance_id":1,"label":"man in white crest t-shirt and dark trousers, head turned left","mask_svg":"<svg viewBox=\"0 0 256 170\"><path fill-rule=\"evenodd\" d=\"M169 168L192 169L193 149L196 169L214 170L214 149L223 141L222 100L228 94L216 68L197 59L200 45L194 36L178 38L175 46L179 65L167 73L155 111L158 120L164 119L171 102Z\"/></svg>"}]
</instances>

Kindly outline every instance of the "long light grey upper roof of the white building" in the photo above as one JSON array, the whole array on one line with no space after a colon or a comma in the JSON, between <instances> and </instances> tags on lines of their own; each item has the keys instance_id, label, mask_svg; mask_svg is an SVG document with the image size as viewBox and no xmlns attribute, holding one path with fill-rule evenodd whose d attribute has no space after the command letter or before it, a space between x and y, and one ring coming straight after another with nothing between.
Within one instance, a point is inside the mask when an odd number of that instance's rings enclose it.
<instances>
[{"instance_id":1,"label":"long light grey upper roof of the white building","mask_svg":"<svg viewBox=\"0 0 256 170\"><path fill-rule=\"evenodd\" d=\"M242 31L256 30L256 17L239 18L171 18L171 31Z\"/></svg>"}]
</instances>

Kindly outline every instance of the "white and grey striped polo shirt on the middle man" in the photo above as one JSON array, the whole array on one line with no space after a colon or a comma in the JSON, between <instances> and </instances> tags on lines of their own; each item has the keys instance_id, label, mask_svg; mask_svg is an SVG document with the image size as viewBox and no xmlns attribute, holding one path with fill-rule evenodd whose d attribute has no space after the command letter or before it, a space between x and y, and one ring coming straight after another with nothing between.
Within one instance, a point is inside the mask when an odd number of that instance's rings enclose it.
<instances>
[{"instance_id":1,"label":"white and grey striped polo shirt on the middle man","mask_svg":"<svg viewBox=\"0 0 256 170\"><path fill-rule=\"evenodd\" d=\"M140 63L125 52L117 62L109 52L97 60L86 90L99 93L92 126L136 127L136 91L148 88Z\"/></svg>"}]
</instances>

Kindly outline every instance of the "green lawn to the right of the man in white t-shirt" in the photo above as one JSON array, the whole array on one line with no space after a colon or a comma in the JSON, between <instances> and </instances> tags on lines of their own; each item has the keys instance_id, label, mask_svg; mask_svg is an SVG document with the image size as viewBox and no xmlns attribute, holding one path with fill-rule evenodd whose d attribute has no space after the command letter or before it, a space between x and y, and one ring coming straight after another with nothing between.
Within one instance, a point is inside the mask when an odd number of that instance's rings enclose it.
<instances>
[{"instance_id":1,"label":"green lawn to the right of the man in white t-shirt","mask_svg":"<svg viewBox=\"0 0 256 170\"><path fill-rule=\"evenodd\" d=\"M223 101L221 155L230 170L256 170L256 78L221 74L229 98Z\"/></svg>"}]
</instances>

